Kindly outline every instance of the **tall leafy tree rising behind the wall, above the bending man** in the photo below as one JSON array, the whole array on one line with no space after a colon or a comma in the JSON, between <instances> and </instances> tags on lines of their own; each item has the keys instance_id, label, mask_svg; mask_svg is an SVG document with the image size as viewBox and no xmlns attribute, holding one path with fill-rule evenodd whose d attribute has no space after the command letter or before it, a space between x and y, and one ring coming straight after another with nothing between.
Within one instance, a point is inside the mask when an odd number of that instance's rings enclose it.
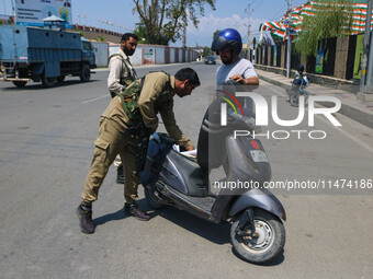
<instances>
[{"instance_id":1,"label":"tall leafy tree rising behind the wall, above the bending man","mask_svg":"<svg viewBox=\"0 0 373 279\"><path fill-rule=\"evenodd\" d=\"M168 45L177 42L188 26L188 19L197 27L197 15L204 15L204 5L215 10L216 0L133 0L134 13L145 25L146 40Z\"/></svg>"}]
</instances>

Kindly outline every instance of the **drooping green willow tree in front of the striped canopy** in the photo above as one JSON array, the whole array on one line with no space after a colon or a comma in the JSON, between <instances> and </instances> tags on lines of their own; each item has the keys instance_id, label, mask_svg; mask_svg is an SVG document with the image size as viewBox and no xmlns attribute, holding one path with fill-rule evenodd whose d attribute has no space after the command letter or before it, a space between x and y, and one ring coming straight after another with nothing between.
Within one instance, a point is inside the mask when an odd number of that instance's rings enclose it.
<instances>
[{"instance_id":1,"label":"drooping green willow tree in front of the striped canopy","mask_svg":"<svg viewBox=\"0 0 373 279\"><path fill-rule=\"evenodd\" d=\"M316 55L318 42L328 37L348 36L352 31L353 0L318 0L315 16L304 15L295 50L307 56Z\"/></svg>"}]
</instances>

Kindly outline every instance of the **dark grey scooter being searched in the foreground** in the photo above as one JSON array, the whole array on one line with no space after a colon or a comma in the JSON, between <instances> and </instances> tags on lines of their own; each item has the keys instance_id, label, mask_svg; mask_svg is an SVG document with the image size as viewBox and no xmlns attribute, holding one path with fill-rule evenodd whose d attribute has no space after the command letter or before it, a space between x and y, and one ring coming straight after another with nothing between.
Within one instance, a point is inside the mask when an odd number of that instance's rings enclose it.
<instances>
[{"instance_id":1,"label":"dark grey scooter being searched in the foreground","mask_svg":"<svg viewBox=\"0 0 373 279\"><path fill-rule=\"evenodd\" d=\"M252 113L244 108L244 116L228 109L228 124L222 127L221 102L222 98L216 98L203 118L196 160L174 151L174 142L168 135L152 136L145 170L140 173L145 197L155 209L173 206L210 222L230 222L230 240L237 254L249 263L265 264L276 257L285 244L281 221L286 220L285 210L275 196L263 188L271 179L271 165L261 142L233 135L235 130L253 130L255 120L249 116ZM210 172L222 165L227 175L223 185L251 182L260 187L222 185L214 194Z\"/></svg>"}]
</instances>

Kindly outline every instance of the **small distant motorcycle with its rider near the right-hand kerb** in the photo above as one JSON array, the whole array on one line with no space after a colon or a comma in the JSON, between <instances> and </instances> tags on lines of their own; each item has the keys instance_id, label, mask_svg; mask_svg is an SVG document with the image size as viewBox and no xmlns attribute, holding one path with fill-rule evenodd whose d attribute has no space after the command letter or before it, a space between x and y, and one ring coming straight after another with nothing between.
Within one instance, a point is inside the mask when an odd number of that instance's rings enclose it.
<instances>
[{"instance_id":1,"label":"small distant motorcycle with its rider near the right-hand kerb","mask_svg":"<svg viewBox=\"0 0 373 279\"><path fill-rule=\"evenodd\" d=\"M308 77L303 74L304 66L299 65L296 68L294 80L292 81L292 88L286 89L289 95L287 101L292 106L299 105L299 96L304 96L304 103L307 103L308 93L305 89L309 85Z\"/></svg>"}]
</instances>

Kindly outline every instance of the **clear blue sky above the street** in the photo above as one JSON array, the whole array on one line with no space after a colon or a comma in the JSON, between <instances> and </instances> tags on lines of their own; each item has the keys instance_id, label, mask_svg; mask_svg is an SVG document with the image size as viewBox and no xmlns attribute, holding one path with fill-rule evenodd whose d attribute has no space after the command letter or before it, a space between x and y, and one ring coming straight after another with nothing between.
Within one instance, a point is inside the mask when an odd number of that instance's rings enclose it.
<instances>
[{"instance_id":1,"label":"clear blue sky above the street","mask_svg":"<svg viewBox=\"0 0 373 279\"><path fill-rule=\"evenodd\" d=\"M39 1L39 0L26 0ZM120 26L135 28L138 15L133 14L132 0L71 0L72 22L100 27L99 20L111 21ZM292 7L306 2L306 0L293 0ZM210 46L213 33L216 30L236 27L242 39L248 39L248 3L251 7L251 33L259 38L258 27L261 22L279 20L287 8L286 0L217 0L216 10L205 9L205 15L200 18L199 28L192 24L187 30L188 46ZM0 14L11 14L11 0L0 0ZM80 14L80 18L78 18ZM87 18L82 19L86 14ZM102 25L104 26L104 25ZM113 27L111 27L113 28ZM126 30L115 27L124 33ZM176 46L182 43L177 42Z\"/></svg>"}]
</instances>

